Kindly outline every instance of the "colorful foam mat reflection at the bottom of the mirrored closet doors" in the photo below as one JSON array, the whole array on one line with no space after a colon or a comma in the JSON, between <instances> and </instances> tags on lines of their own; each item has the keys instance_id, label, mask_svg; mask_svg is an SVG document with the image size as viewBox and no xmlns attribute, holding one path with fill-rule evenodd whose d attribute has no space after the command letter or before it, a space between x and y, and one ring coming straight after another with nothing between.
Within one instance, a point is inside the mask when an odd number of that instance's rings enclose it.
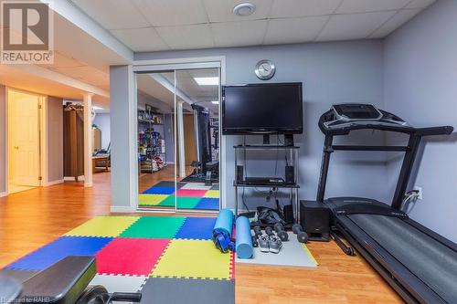
<instances>
[{"instance_id":1,"label":"colorful foam mat reflection at the bottom of the mirrored closet doors","mask_svg":"<svg viewBox=\"0 0 457 304\"><path fill-rule=\"evenodd\" d=\"M160 182L143 191L140 207L174 207L178 209L219 210L218 185L205 183Z\"/></svg>"}]
</instances>

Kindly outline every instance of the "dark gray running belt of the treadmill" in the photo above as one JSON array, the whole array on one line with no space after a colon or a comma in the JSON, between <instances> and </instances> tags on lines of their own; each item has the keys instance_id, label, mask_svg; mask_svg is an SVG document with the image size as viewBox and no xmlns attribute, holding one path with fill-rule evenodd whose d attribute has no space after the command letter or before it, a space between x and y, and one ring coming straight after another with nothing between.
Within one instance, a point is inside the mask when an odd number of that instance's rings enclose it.
<instances>
[{"instance_id":1,"label":"dark gray running belt of the treadmill","mask_svg":"<svg viewBox=\"0 0 457 304\"><path fill-rule=\"evenodd\" d=\"M442 299L457 303L457 253L396 217L348 215Z\"/></svg>"}]
</instances>

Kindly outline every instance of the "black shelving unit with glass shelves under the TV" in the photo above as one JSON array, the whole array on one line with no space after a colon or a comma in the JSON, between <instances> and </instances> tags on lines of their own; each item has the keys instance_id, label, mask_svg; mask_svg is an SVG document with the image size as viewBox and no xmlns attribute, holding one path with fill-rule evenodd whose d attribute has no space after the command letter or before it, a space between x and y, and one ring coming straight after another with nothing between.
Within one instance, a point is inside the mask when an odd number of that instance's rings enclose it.
<instances>
[{"instance_id":1,"label":"black shelving unit with glass shelves under the TV","mask_svg":"<svg viewBox=\"0 0 457 304\"><path fill-rule=\"evenodd\" d=\"M298 183L298 152L300 147L298 146L285 146L285 145L236 145L233 146L235 149L235 173L237 172L237 166L239 165L239 153L243 153L242 160L246 161L246 152L249 150L257 150L257 151L274 151L274 150L286 150L288 151L288 160L291 161L290 164L293 165L294 168L294 183L246 183L245 178L243 178L243 183L237 183L237 180L233 181L233 186L235 187L235 214L238 216L239 212L239 188L282 188L290 190L290 197L293 204L293 214L295 217L295 222L300 221L300 214L298 208L298 191L300 189L300 185ZM271 162L276 162L276 160L272 160ZM246 174L245 163L243 163L244 174ZM246 176L244 176L246 177ZM249 211L249 210L247 210ZM265 225L260 225L265 226ZM291 225L292 226L292 225ZM287 228L287 227L286 227ZM290 227L289 227L290 228Z\"/></svg>"}]
</instances>

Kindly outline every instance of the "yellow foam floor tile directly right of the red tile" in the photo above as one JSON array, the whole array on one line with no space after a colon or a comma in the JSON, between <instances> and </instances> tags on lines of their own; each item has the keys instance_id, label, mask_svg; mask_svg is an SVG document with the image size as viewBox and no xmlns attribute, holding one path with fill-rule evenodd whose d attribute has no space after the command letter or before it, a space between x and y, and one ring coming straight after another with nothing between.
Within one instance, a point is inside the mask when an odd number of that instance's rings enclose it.
<instances>
[{"instance_id":1,"label":"yellow foam floor tile directly right of the red tile","mask_svg":"<svg viewBox=\"0 0 457 304\"><path fill-rule=\"evenodd\" d=\"M230 279L233 261L210 240L171 240L151 277Z\"/></svg>"}]
</instances>

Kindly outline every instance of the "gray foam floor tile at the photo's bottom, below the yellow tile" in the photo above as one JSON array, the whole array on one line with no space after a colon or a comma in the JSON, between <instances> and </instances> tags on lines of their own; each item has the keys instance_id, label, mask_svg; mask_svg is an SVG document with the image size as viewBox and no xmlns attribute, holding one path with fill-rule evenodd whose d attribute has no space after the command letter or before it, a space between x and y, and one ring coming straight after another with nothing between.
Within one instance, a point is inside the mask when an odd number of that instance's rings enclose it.
<instances>
[{"instance_id":1,"label":"gray foam floor tile at the photo's bottom, below the yellow tile","mask_svg":"<svg viewBox=\"0 0 457 304\"><path fill-rule=\"evenodd\" d=\"M234 304L235 281L148 278L141 293L144 304Z\"/></svg>"}]
</instances>

